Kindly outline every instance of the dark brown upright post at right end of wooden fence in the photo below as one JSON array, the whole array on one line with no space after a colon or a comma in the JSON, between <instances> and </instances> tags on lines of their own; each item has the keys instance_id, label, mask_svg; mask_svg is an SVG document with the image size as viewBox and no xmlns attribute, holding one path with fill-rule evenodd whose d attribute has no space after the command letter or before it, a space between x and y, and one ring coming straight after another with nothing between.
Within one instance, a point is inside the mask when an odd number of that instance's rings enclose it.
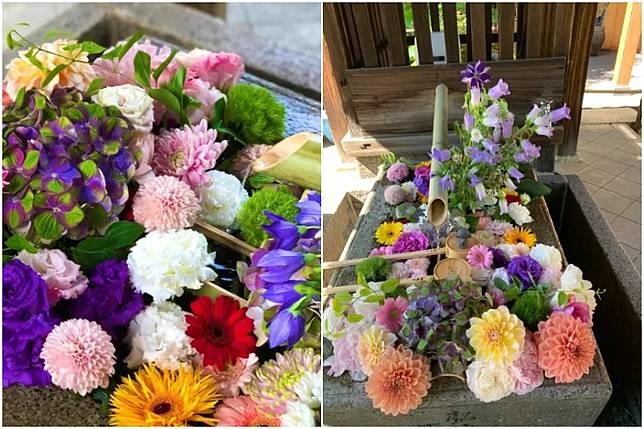
<instances>
[{"instance_id":1,"label":"dark brown upright post at right end of wooden fence","mask_svg":"<svg viewBox=\"0 0 644 429\"><path fill-rule=\"evenodd\" d=\"M570 107L570 119L564 122L565 133L558 154L577 153L577 139L581 123L581 104L584 97L588 59L593 38L597 3L576 3L573 15L574 49L570 50L566 65L564 100ZM639 25L639 24L638 24ZM556 106L557 104L555 104Z\"/></svg>"}]
</instances>

